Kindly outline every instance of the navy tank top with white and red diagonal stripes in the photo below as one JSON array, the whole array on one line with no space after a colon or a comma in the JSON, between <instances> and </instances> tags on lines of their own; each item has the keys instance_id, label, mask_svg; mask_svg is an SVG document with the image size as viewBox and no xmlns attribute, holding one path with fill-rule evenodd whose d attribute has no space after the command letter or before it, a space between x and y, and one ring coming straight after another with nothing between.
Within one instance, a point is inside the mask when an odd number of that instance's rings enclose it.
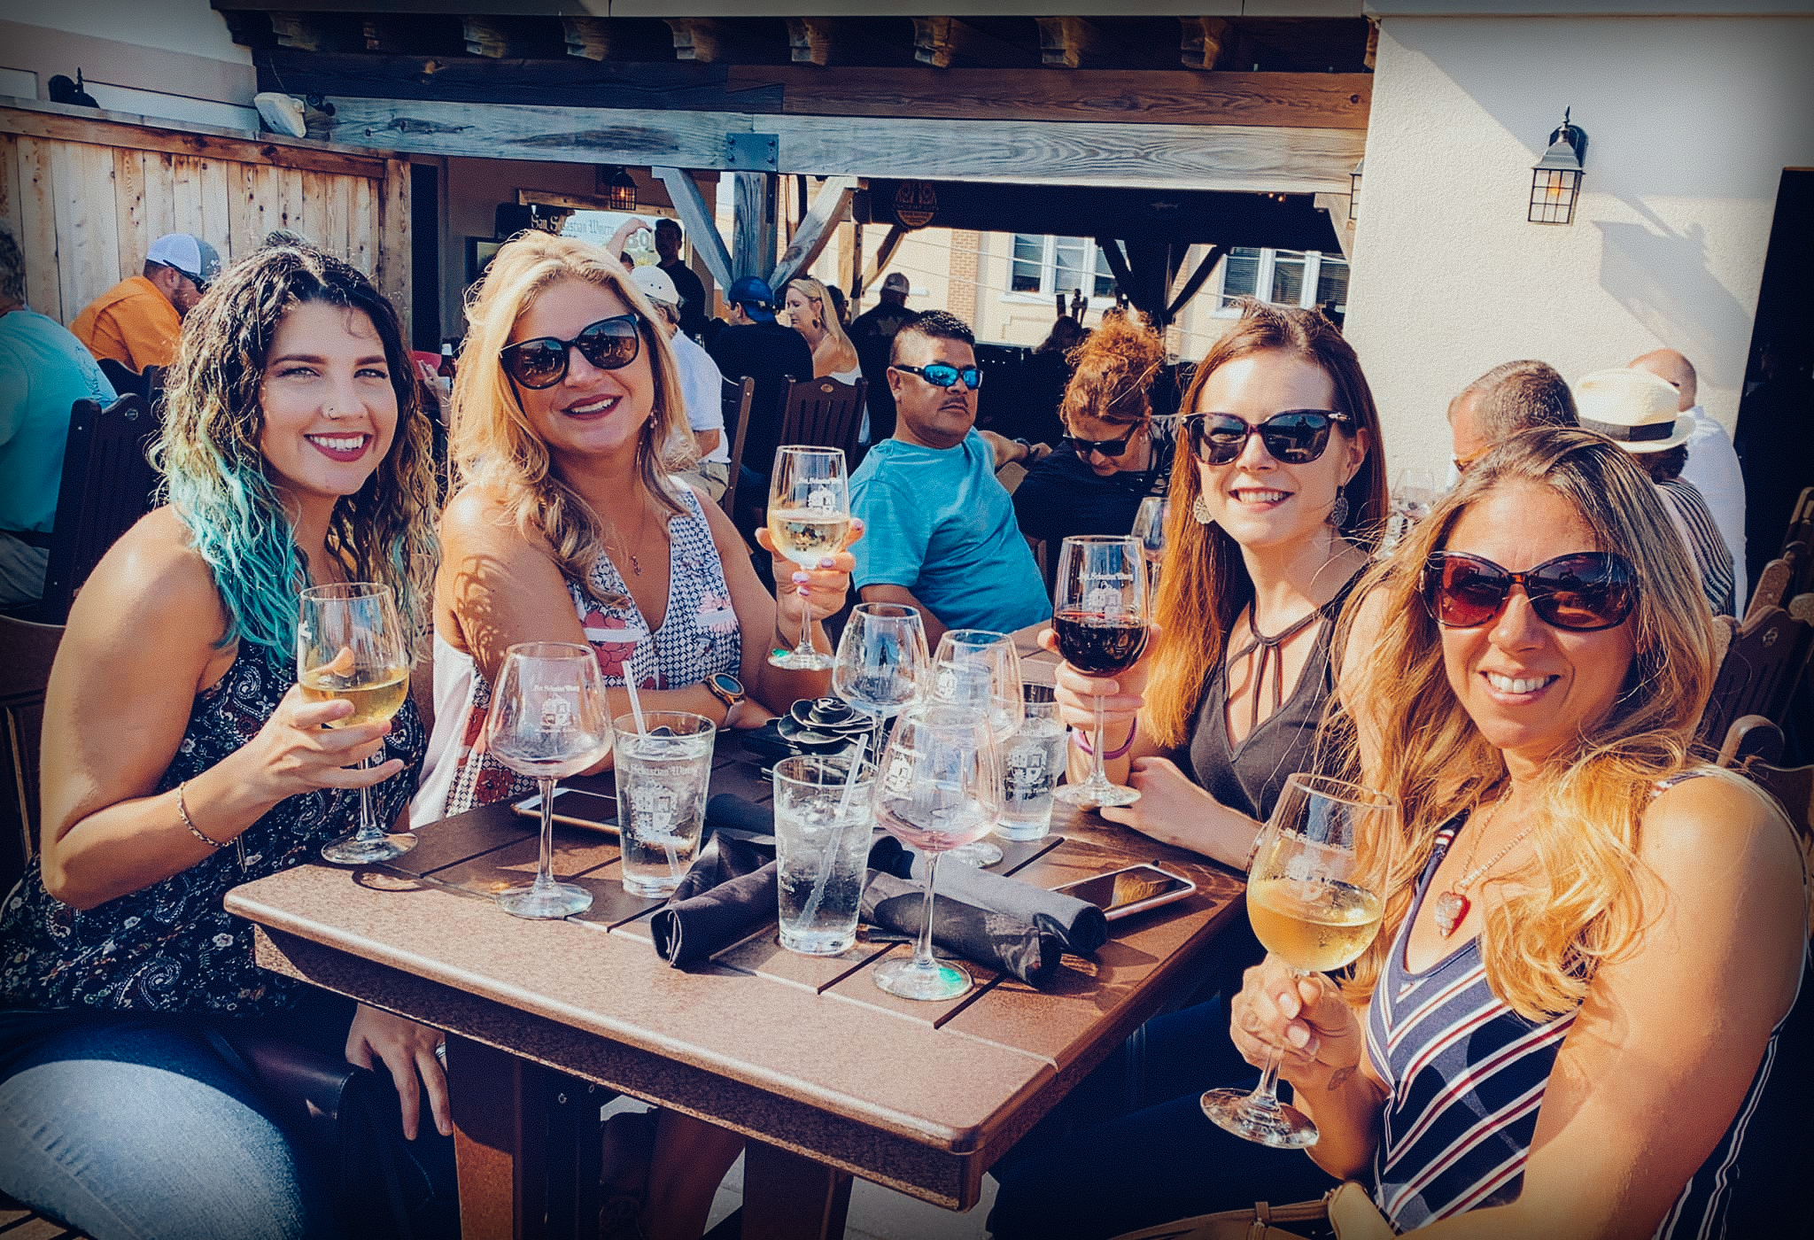
<instances>
[{"instance_id":1,"label":"navy tank top with white and red diagonal stripes","mask_svg":"<svg viewBox=\"0 0 1814 1240\"><path fill-rule=\"evenodd\" d=\"M1373 1155L1373 1200L1399 1231L1518 1198L1549 1071L1575 1024L1573 1012L1533 1024L1500 1003L1487 988L1478 939L1422 974L1404 966L1411 923L1460 827L1457 818L1437 832L1368 1006L1368 1059L1391 1091ZM1770 1030L1738 1115L1663 1216L1658 1240L1725 1235L1740 1146L1780 1032L1781 1022Z\"/></svg>"}]
</instances>

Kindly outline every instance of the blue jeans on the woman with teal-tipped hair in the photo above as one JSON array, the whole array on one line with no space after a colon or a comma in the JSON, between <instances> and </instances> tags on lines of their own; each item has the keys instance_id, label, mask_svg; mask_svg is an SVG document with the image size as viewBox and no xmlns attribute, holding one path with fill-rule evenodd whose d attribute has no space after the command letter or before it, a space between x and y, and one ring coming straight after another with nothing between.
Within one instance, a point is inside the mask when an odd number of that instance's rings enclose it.
<instances>
[{"instance_id":1,"label":"blue jeans on the woman with teal-tipped hair","mask_svg":"<svg viewBox=\"0 0 1814 1240\"><path fill-rule=\"evenodd\" d=\"M270 1019L337 1055L352 1008L332 1003ZM410 1155L452 1171L426 1100ZM94 1240L339 1235L332 1186L259 1088L200 1021L161 1013L0 1013L0 1189Z\"/></svg>"}]
</instances>

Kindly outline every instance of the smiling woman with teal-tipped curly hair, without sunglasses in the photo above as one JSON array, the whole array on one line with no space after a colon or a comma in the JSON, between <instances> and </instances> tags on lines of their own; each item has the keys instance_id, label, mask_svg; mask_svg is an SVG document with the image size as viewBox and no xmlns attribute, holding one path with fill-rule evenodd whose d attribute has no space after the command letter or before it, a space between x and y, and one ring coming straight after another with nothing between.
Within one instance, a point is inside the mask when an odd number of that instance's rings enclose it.
<instances>
[{"instance_id":1,"label":"smiling woman with teal-tipped curly hair, without sunglasses","mask_svg":"<svg viewBox=\"0 0 1814 1240\"><path fill-rule=\"evenodd\" d=\"M183 321L156 450L169 504L69 613L42 850L0 912L0 1189L87 1235L336 1231L319 1175L216 1050L258 1024L383 1061L412 1138L426 1086L441 1137L415 1160L452 1166L435 1033L259 972L221 906L345 832L361 787L386 819L414 792L414 705L323 727L352 705L303 700L296 625L301 589L370 580L426 629L428 433L397 315L346 263L261 250ZM432 1195L419 1231L454 1209Z\"/></svg>"}]
</instances>

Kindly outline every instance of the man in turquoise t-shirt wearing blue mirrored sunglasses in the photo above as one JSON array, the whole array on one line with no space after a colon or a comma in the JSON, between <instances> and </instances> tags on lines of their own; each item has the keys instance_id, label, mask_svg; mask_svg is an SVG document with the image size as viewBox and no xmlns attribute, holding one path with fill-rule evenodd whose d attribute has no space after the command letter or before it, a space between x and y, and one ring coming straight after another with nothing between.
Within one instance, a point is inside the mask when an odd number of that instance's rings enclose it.
<instances>
[{"instance_id":1,"label":"man in turquoise t-shirt wearing blue mirrored sunglasses","mask_svg":"<svg viewBox=\"0 0 1814 1240\"><path fill-rule=\"evenodd\" d=\"M1052 616L1052 600L996 482L1025 444L976 422L976 337L934 310L902 326L889 359L898 421L851 479L863 520L856 586L863 602L918 607L936 647L945 629L1014 629Z\"/></svg>"}]
</instances>

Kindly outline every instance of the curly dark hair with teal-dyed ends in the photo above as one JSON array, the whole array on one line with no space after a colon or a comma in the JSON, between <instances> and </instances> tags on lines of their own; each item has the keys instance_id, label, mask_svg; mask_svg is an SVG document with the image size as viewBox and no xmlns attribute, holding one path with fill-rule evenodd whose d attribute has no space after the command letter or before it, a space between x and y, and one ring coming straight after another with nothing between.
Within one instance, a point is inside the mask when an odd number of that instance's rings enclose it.
<instances>
[{"instance_id":1,"label":"curly dark hair with teal-dyed ends","mask_svg":"<svg viewBox=\"0 0 1814 1240\"><path fill-rule=\"evenodd\" d=\"M163 489L214 569L227 607L221 645L245 638L276 651L296 644L297 591L308 562L259 448L259 388L278 325L292 308L325 303L363 312L385 344L397 393L390 451L354 495L334 502L328 553L356 580L392 587L417 636L428 631L435 573L435 470L415 363L397 312L357 268L301 245L258 250L230 266L183 315L152 460Z\"/></svg>"}]
</instances>

